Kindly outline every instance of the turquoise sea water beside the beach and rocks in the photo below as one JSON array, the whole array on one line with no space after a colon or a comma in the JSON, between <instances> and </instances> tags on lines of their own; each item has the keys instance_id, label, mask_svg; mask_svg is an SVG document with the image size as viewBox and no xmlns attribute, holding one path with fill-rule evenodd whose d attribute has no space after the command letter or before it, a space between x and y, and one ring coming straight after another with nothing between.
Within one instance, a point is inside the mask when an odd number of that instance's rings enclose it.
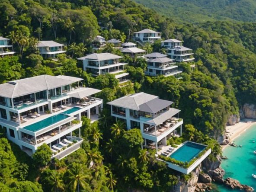
<instances>
[{"instance_id":1,"label":"turquoise sea water beside the beach and rocks","mask_svg":"<svg viewBox=\"0 0 256 192\"><path fill-rule=\"evenodd\" d=\"M225 170L225 176L232 177L245 184L253 187L256 190L256 179L252 174L256 174L256 125L253 125L244 131L239 137L234 139L235 144L243 147L227 146L223 150L223 156L227 156L228 160L222 160L221 167ZM224 186L217 185L214 192L236 192L235 190L227 189ZM240 190L237 190L240 192Z\"/></svg>"}]
</instances>

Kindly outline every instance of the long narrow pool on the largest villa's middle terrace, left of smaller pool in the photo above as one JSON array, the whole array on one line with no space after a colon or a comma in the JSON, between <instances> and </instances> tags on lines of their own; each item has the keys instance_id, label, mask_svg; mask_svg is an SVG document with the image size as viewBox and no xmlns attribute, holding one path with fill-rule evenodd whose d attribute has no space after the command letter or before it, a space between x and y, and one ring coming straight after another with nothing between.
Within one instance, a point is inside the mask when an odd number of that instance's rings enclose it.
<instances>
[{"instance_id":1,"label":"long narrow pool on the largest villa's middle terrace, left of smaller pool","mask_svg":"<svg viewBox=\"0 0 256 192\"><path fill-rule=\"evenodd\" d=\"M54 123L57 123L57 122L65 119L65 118L68 118L68 117L69 116L65 115L65 114L54 115L54 116L45 118L40 122L36 122L36 123L31 124L31 125L28 125L28 126L24 127L23 129L36 132L36 131L39 131L42 128L46 128L50 125L53 125Z\"/></svg>"}]
</instances>

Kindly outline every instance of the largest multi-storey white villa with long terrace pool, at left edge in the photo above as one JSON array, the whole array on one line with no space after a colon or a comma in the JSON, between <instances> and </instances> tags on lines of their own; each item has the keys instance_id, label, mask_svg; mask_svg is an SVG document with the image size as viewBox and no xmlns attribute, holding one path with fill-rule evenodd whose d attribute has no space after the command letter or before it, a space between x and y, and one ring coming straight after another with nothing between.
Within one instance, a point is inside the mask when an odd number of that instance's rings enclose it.
<instances>
[{"instance_id":1,"label":"largest multi-storey white villa with long terrace pool, at left edge","mask_svg":"<svg viewBox=\"0 0 256 192\"><path fill-rule=\"evenodd\" d=\"M101 90L82 87L83 79L41 75L0 85L0 125L7 138L30 156L42 144L52 158L62 159L80 148L81 116L99 118Z\"/></svg>"}]
</instances>

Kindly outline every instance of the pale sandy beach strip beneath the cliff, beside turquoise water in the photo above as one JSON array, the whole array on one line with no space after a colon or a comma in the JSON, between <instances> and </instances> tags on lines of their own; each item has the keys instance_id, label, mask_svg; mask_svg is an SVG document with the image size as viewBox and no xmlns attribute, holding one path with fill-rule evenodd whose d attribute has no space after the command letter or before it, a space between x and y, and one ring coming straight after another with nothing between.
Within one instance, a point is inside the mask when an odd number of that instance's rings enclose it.
<instances>
[{"instance_id":1,"label":"pale sandy beach strip beneath the cliff, beside turquoise water","mask_svg":"<svg viewBox=\"0 0 256 192\"><path fill-rule=\"evenodd\" d=\"M251 128L253 125L256 125L255 119L242 119L235 125L226 126L226 135L229 136L230 142L234 141L235 138L239 137L240 134ZM223 145L222 150L224 150L226 147L227 145Z\"/></svg>"}]
</instances>

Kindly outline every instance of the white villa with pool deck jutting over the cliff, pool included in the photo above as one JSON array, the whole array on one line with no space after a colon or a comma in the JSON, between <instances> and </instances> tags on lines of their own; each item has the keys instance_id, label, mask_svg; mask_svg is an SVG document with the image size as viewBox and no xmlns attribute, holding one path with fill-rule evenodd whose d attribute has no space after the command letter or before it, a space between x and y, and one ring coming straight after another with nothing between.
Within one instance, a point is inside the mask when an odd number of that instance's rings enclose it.
<instances>
[{"instance_id":1,"label":"white villa with pool deck jutting over the cliff, pool included","mask_svg":"<svg viewBox=\"0 0 256 192\"><path fill-rule=\"evenodd\" d=\"M172 136L182 135L183 119L179 109L171 108L173 102L147 93L135 93L108 102L111 115L123 120L127 129L138 128L144 138L142 147L156 150L158 160L173 170L189 174L210 153L208 146L186 141L177 148L167 145ZM180 162L177 165L176 162Z\"/></svg>"}]
</instances>

